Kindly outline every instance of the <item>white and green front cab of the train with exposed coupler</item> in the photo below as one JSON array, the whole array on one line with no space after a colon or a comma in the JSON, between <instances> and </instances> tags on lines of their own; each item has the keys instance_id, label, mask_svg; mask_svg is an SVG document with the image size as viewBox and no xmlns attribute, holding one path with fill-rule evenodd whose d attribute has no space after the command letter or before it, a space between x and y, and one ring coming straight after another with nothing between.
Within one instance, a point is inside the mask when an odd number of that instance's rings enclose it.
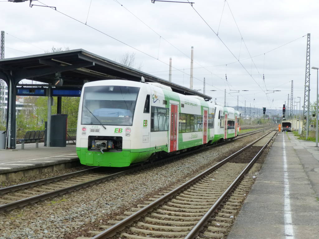
<instances>
[{"instance_id":1,"label":"white and green front cab of the train with exposed coupler","mask_svg":"<svg viewBox=\"0 0 319 239\"><path fill-rule=\"evenodd\" d=\"M125 167L145 161L151 155L150 118L146 84L120 80L86 83L78 114L80 162Z\"/></svg>"}]
</instances>

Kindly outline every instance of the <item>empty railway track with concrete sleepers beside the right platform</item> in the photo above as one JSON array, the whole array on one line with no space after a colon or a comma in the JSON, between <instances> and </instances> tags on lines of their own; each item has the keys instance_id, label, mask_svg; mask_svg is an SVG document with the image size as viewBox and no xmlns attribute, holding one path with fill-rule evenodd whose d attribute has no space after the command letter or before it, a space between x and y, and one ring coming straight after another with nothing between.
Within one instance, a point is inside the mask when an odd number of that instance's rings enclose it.
<instances>
[{"instance_id":1,"label":"empty railway track with concrete sleepers beside the right platform","mask_svg":"<svg viewBox=\"0 0 319 239\"><path fill-rule=\"evenodd\" d=\"M100 226L106 230L88 233L92 239L224 237L245 198L249 180L253 180L244 176L256 167L254 163L276 133L265 134L182 185L163 191L118 216L117 221Z\"/></svg>"}]
</instances>

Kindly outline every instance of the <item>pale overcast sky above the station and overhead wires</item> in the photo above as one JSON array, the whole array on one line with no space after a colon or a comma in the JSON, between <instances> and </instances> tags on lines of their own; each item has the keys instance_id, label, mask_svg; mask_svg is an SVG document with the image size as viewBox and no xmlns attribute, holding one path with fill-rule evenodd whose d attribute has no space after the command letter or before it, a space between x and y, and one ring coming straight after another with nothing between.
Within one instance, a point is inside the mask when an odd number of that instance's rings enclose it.
<instances>
[{"instance_id":1,"label":"pale overcast sky above the station and overhead wires","mask_svg":"<svg viewBox=\"0 0 319 239\"><path fill-rule=\"evenodd\" d=\"M135 53L136 67L142 64L142 71L168 80L172 57L172 81L189 87L193 46L194 89L203 92L205 77L206 94L219 104L224 104L226 89L227 105L237 105L239 96L239 105L246 100L246 106L281 110L293 80L293 97L301 97L303 105L307 33L311 33L310 67L319 67L318 1L193 2L194 8L150 0L33 1L87 21L117 41L48 7L0 1L0 30L7 33L5 58L41 54L52 46L82 48L111 60L129 52ZM259 56L250 58L255 55ZM314 102L316 71L311 73L310 102Z\"/></svg>"}]
</instances>

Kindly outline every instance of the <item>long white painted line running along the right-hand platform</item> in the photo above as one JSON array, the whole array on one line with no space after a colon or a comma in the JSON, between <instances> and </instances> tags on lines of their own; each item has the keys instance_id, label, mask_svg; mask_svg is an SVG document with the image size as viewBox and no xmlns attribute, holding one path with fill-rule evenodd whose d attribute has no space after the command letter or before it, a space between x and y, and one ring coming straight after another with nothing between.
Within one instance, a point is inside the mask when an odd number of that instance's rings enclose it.
<instances>
[{"instance_id":1,"label":"long white painted line running along the right-hand platform","mask_svg":"<svg viewBox=\"0 0 319 239\"><path fill-rule=\"evenodd\" d=\"M282 134L282 142L283 142L283 158L284 158L284 191L285 191L285 200L284 200L284 217L285 217L285 236L286 238L293 239L293 221L291 218L291 209L290 209L290 198L289 198L289 179L288 179L288 171L287 171L287 158L286 158L286 144L285 144L285 136Z\"/></svg>"}]
</instances>

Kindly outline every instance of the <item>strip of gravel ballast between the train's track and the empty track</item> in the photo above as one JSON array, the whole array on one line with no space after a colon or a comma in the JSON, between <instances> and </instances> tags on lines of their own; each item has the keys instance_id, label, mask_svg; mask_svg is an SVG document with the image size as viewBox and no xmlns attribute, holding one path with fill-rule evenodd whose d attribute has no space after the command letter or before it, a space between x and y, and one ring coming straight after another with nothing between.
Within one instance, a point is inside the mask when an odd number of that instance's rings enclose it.
<instances>
[{"instance_id":1,"label":"strip of gravel ballast between the train's track and the empty track","mask_svg":"<svg viewBox=\"0 0 319 239\"><path fill-rule=\"evenodd\" d=\"M85 234L88 227L106 223L111 215L135 207L145 196L184 179L220 155L236 151L261 135L254 134L159 167L81 189L63 198L1 213L0 238L77 238Z\"/></svg>"}]
</instances>

